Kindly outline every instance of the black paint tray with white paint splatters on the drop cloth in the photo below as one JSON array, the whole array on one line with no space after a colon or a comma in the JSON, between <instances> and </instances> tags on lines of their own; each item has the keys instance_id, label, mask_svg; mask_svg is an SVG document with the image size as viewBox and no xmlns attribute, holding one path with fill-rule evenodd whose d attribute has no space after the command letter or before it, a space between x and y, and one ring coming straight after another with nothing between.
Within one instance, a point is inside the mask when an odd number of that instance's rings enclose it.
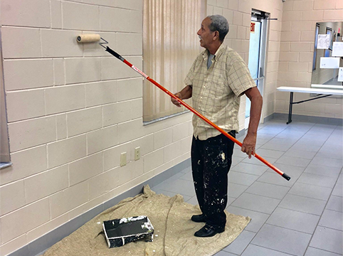
<instances>
[{"instance_id":1,"label":"black paint tray with white paint splatters on the drop cloth","mask_svg":"<svg viewBox=\"0 0 343 256\"><path fill-rule=\"evenodd\" d=\"M147 216L105 220L102 228L110 248L143 239L152 242L154 239L154 228Z\"/></svg>"}]
</instances>

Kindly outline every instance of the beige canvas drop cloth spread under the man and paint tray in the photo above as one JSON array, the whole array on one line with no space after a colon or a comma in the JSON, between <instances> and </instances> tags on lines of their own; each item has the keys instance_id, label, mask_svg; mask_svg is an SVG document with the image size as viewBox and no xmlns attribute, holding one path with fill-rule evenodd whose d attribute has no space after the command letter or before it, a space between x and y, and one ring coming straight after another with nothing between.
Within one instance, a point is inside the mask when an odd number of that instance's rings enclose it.
<instances>
[{"instance_id":1,"label":"beige canvas drop cloth spread under the man and paint tray","mask_svg":"<svg viewBox=\"0 0 343 256\"><path fill-rule=\"evenodd\" d=\"M156 194L149 186L134 198L126 198L105 210L81 228L63 238L44 256L176 256L214 255L228 246L248 225L250 218L226 213L226 230L212 238L196 238L194 233L204 223L194 223L191 215L200 214L199 206L184 202L180 195L174 197ZM153 242L130 242L122 247L109 248L102 231L102 221L115 218L147 215L154 226Z\"/></svg>"}]
</instances>

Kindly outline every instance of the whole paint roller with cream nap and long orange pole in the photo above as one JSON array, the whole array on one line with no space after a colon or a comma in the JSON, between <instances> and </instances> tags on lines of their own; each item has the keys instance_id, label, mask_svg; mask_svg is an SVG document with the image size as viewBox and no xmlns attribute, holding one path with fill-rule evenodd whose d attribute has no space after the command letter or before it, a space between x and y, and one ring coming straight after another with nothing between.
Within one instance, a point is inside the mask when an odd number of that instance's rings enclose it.
<instances>
[{"instance_id":1,"label":"whole paint roller with cream nap and long orange pole","mask_svg":"<svg viewBox=\"0 0 343 256\"><path fill-rule=\"evenodd\" d=\"M200 117L201 119L203 119L205 122L207 122L208 124L210 124L212 127L214 127L215 129L217 129L219 132L221 132L222 134L224 134L226 137L228 137L228 139L231 139L231 141L235 142L236 144L238 144L238 146L242 146L242 143L239 142L236 138L232 137L230 134L228 134L227 132L225 132L223 129L221 129L220 127L218 127L216 124L214 124L213 122L211 122L209 119L207 119L206 117L204 117L202 114L200 114L199 112L197 112L196 110L194 110L192 107L190 107L189 105L187 105L185 102L183 102L182 100L180 100L178 97L176 97L173 93L169 92L169 90L167 90L166 88L164 88L162 85L160 85L158 82L156 82L155 80L153 80L152 78L149 78L149 76L145 75L141 70L139 70L138 68L136 68L134 65L132 65L130 62L128 62L127 60L125 60L125 58L122 58L121 55L119 55L118 53L116 53L114 50L112 50L110 47L108 46L104 46L104 44L107 44L108 42L104 39L101 38L100 35L98 34L83 34L80 35L76 38L76 40L78 41L78 43L95 43L98 41L101 41L99 44L100 46L102 46L102 48L105 48L105 51L107 51L108 53L112 54L113 56L115 56L115 58L118 58L119 60L121 60L123 63L125 63L126 65L128 65L130 68L132 68L134 71L136 71L137 73L139 73L140 75L142 75L145 79L149 80L149 82L152 82L154 85L156 85L157 87L159 87L159 89L161 89L162 91L166 92L167 95L169 95L170 97L173 97L175 100L179 101L181 105L183 105L184 107L186 107L186 109L190 110L191 112L193 112L194 114L196 114L198 117ZM255 158L257 158L258 160L260 160L261 162L263 162L263 164L265 164L266 166L268 166L270 169L273 169L274 171L276 171L278 174L280 174L281 176L283 176L283 178L285 178L287 181L290 180L290 176L288 176L287 174L285 174L283 171L281 171L280 169L278 169L277 167L273 166L273 164L270 164L268 161L266 161L265 159L263 159L261 156L259 156L258 154L254 155Z\"/></svg>"}]
</instances>

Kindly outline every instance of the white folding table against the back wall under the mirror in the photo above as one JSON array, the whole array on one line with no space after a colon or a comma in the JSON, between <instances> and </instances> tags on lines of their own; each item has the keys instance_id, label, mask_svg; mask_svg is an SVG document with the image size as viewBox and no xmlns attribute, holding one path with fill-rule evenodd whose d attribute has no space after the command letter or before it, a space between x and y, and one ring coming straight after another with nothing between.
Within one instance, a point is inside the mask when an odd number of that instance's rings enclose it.
<instances>
[{"instance_id":1,"label":"white folding table against the back wall under the mirror","mask_svg":"<svg viewBox=\"0 0 343 256\"><path fill-rule=\"evenodd\" d=\"M317 100L322 97L329 97L331 95L343 95L343 90L333 90L333 89L317 89L317 88L305 88L305 87L278 87L277 88L280 92L290 92L290 109L288 111L288 122L290 124L292 122L292 107L294 104L300 104L302 102L308 102L310 100ZM343 87L342 87L343 89ZM315 93L318 97L309 99L309 100L302 100L300 102L293 102L293 93L294 92L302 92L302 93Z\"/></svg>"}]
</instances>

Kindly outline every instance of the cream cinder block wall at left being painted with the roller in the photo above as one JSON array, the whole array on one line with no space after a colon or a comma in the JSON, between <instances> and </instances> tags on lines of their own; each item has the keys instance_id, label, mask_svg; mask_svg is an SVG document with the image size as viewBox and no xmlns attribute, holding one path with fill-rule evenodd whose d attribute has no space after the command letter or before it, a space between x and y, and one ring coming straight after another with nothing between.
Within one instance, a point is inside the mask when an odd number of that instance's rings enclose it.
<instances>
[{"instance_id":1,"label":"cream cinder block wall at left being painted with the roller","mask_svg":"<svg viewBox=\"0 0 343 256\"><path fill-rule=\"evenodd\" d=\"M191 114L143 126L141 76L75 40L100 33L142 69L142 2L0 1L13 162L0 169L0 255L189 159Z\"/></svg>"}]
</instances>

